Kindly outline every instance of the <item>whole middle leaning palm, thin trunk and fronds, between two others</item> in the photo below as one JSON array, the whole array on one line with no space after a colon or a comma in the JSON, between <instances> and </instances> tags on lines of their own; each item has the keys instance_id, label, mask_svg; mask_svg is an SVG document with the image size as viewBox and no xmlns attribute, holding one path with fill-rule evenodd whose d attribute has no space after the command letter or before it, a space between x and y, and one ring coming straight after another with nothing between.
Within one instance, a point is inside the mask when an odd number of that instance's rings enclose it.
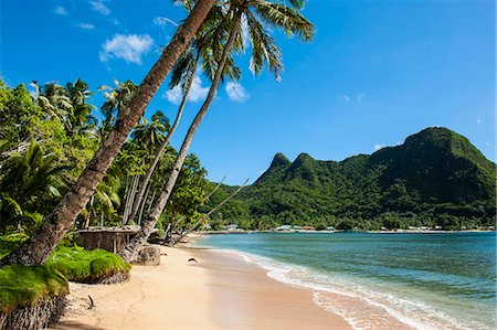
<instances>
[{"instance_id":1,"label":"whole middle leaning palm, thin trunk and fronds, between two others","mask_svg":"<svg viewBox=\"0 0 497 330\"><path fill-rule=\"evenodd\" d=\"M193 9L191 1L184 1L183 6L188 11L191 11ZM188 96L200 61L202 61L202 68L205 73L205 76L211 82L214 79L214 63L216 63L216 61L213 57L215 54L214 52L212 52L212 50L221 47L220 43L223 41L221 32L225 32L225 30L220 29L222 26L223 20L223 8L220 6L214 6L202 25L197 31L197 34L191 41L189 47L183 52L183 54L180 56L172 68L169 87L172 89L176 86L180 86L182 91L182 99L175 119L175 124L166 136L166 139L162 141L158 152L156 153L156 157L154 158L150 167L145 174L142 182L140 183L140 187L138 188L138 193L133 204L129 217L127 217L127 223L133 221L137 215L157 164L159 163L163 152L169 146L169 141L171 140L171 137L181 120L181 116L183 114L184 106L187 105ZM233 57L229 56L226 60L226 64L224 65L223 74L221 75L221 81L226 77L237 81L240 76L241 70L235 65Z\"/></svg>"}]
</instances>

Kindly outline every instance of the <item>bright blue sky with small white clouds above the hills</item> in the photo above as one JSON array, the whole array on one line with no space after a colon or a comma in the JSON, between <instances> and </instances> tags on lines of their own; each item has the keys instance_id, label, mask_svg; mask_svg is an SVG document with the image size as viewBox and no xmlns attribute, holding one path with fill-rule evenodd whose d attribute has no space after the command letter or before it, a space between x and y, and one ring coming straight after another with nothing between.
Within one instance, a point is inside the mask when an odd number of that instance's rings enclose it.
<instances>
[{"instance_id":1,"label":"bright blue sky with small white clouds above the hills","mask_svg":"<svg viewBox=\"0 0 497 330\"><path fill-rule=\"evenodd\" d=\"M169 0L2 0L2 78L61 84L139 83L184 11ZM429 126L467 138L490 160L495 141L494 1L309 0L311 43L274 31L281 83L254 77L239 55L240 84L222 86L191 147L211 180L255 180L276 152L342 160L402 142ZM248 50L250 52L250 50ZM208 84L201 75L172 145L179 148ZM150 104L173 118L165 84ZM102 104L95 95L94 104Z\"/></svg>"}]
</instances>

